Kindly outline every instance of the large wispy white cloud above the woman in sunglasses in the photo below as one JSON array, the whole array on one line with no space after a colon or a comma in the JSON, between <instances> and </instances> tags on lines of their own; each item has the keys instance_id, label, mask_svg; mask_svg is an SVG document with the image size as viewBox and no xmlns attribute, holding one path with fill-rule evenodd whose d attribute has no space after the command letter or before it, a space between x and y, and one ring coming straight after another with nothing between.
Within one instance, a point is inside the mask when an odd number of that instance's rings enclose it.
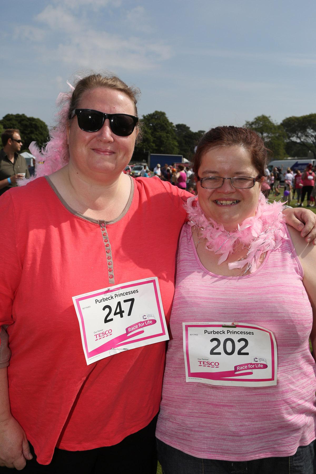
<instances>
[{"instance_id":1,"label":"large wispy white cloud above the woman in sunglasses","mask_svg":"<svg viewBox=\"0 0 316 474\"><path fill-rule=\"evenodd\" d=\"M83 4L83 0L76 2ZM85 0L87 3L90 0ZM107 4L106 0L96 2L98 7ZM119 1L115 3L116 6L118 4ZM107 24L99 29L92 26L89 15L80 15L74 6L72 0L63 3L55 0L54 4L47 5L35 17L41 28L20 26L17 29L20 37L37 41L37 54L43 62L54 60L73 68L139 71L153 69L172 57L172 48L162 40L144 41L141 36L128 36L127 27L122 27L124 18L129 20L134 35L135 23L147 27L149 20L143 7L135 7L127 13L124 10L123 18L116 18L120 27L118 31L124 33L113 34L106 30ZM111 23L110 27L113 30L115 24Z\"/></svg>"}]
</instances>

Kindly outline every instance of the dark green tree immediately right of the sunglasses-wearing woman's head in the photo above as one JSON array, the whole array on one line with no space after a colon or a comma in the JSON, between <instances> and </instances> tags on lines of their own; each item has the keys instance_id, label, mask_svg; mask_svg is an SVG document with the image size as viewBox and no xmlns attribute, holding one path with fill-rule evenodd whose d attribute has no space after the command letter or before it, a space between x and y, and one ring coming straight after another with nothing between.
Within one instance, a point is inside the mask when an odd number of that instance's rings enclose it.
<instances>
[{"instance_id":1,"label":"dark green tree immediately right of the sunglasses-wearing woman's head","mask_svg":"<svg viewBox=\"0 0 316 474\"><path fill-rule=\"evenodd\" d=\"M169 121L165 112L155 110L144 115L143 142L137 148L149 150L151 153L177 155L179 146L173 123Z\"/></svg>"}]
</instances>

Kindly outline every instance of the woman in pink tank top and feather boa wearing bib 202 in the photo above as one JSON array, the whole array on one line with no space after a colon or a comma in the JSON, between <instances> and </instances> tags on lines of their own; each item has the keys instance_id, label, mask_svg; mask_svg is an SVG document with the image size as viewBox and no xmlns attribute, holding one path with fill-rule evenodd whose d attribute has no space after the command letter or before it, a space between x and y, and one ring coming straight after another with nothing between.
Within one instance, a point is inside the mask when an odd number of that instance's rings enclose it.
<instances>
[{"instance_id":1,"label":"woman in pink tank top and feather boa wearing bib 202","mask_svg":"<svg viewBox=\"0 0 316 474\"><path fill-rule=\"evenodd\" d=\"M193 158L157 422L164 474L316 472L316 248L261 193L255 132Z\"/></svg>"}]
</instances>

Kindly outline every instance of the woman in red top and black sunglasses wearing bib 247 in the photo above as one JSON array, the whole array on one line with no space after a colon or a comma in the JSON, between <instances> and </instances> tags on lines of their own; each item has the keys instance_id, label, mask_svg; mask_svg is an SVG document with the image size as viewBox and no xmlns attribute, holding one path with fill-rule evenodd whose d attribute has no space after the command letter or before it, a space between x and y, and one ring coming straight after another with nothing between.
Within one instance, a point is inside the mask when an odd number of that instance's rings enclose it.
<instances>
[{"instance_id":1,"label":"woman in red top and black sunglasses wearing bib 247","mask_svg":"<svg viewBox=\"0 0 316 474\"><path fill-rule=\"evenodd\" d=\"M155 474L190 194L122 173L140 132L133 88L91 75L60 102L44 155L32 148L37 179L0 201L0 471Z\"/></svg>"}]
</instances>

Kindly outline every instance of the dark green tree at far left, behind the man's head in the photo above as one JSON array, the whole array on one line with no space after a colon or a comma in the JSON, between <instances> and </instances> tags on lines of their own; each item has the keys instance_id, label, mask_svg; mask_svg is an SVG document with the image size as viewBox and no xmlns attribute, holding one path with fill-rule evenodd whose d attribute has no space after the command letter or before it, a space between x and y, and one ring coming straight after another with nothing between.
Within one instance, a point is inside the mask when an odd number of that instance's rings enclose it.
<instances>
[{"instance_id":1,"label":"dark green tree at far left, behind the man's head","mask_svg":"<svg viewBox=\"0 0 316 474\"><path fill-rule=\"evenodd\" d=\"M4 129L18 128L23 141L23 149L27 149L33 141L43 146L49 140L47 125L40 118L27 117L25 114L7 114L0 124Z\"/></svg>"}]
</instances>

